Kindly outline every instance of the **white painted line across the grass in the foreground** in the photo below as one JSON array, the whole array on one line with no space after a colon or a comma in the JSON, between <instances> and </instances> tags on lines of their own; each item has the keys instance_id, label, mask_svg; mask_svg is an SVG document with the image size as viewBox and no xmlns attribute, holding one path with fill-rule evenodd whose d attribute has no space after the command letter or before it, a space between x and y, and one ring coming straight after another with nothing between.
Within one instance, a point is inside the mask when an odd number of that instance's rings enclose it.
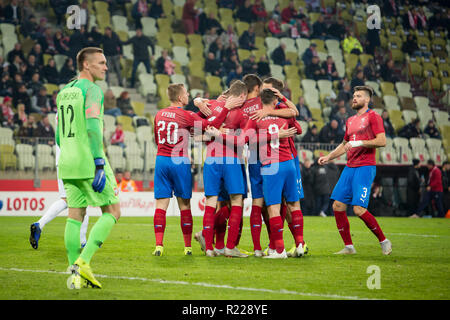
<instances>
[{"instance_id":1,"label":"white painted line across the grass in the foreground","mask_svg":"<svg viewBox=\"0 0 450 320\"><path fill-rule=\"evenodd\" d=\"M68 272L62 272L62 271L27 270L27 269L3 268L3 267L0 267L0 271L69 274ZM361 297L357 297L357 296L341 296L341 295L337 295L337 294L298 292L298 291L290 291L290 290L285 290L285 289L272 290L272 289L264 289L264 288L233 287L230 285L219 285L219 284L204 283L204 282L187 282L187 281L176 281L176 280L148 279L148 278L142 278L142 277L108 276L108 275L102 275L102 274L96 274L95 276L98 278L106 278L106 279L139 280L139 281L143 281L143 282L156 282L156 283L160 283L160 284L198 286L198 287L230 289L230 290L238 290L238 291L266 292L266 293L274 293L274 294L298 295L298 296L306 296L306 297L321 297L321 298L340 299L340 300L344 300L344 299L345 300L382 300L382 299L372 299L372 298L361 298Z\"/></svg>"}]
</instances>

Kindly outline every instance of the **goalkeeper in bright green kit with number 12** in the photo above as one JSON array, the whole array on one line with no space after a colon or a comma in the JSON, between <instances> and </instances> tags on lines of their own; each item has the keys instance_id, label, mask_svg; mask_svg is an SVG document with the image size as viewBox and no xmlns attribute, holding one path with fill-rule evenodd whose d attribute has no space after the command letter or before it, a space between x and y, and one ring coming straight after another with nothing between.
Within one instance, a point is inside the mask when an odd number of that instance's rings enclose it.
<instances>
[{"instance_id":1,"label":"goalkeeper in bright green kit with number 12","mask_svg":"<svg viewBox=\"0 0 450 320\"><path fill-rule=\"evenodd\" d=\"M93 47L78 53L77 66L78 77L56 98L56 143L61 149L59 177L69 207L64 233L71 273L67 287L101 288L90 262L120 217L116 180L103 151L103 92L94 83L105 78L108 68L103 50ZM81 251L80 227L87 206L101 207L102 216L92 227Z\"/></svg>"}]
</instances>

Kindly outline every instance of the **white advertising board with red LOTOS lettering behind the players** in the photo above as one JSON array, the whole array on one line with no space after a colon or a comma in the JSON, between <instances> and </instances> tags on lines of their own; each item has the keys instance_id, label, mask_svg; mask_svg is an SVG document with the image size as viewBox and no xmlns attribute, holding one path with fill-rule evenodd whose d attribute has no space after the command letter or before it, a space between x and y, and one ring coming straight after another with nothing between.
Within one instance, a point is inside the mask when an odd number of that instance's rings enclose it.
<instances>
[{"instance_id":1,"label":"white advertising board with red LOTOS lettering behind the players","mask_svg":"<svg viewBox=\"0 0 450 320\"><path fill-rule=\"evenodd\" d=\"M155 212L155 197L153 192L124 192L119 194L120 208L124 217L151 217ZM47 209L59 199L58 192L48 191L0 191L0 216L42 216ZM250 216L252 199L244 201L244 216ZM193 216L203 216L205 195L203 192L193 192L191 210ZM100 216L99 208L88 207L90 216ZM61 213L67 216L67 210ZM170 201L167 216L179 216L175 197Z\"/></svg>"}]
</instances>

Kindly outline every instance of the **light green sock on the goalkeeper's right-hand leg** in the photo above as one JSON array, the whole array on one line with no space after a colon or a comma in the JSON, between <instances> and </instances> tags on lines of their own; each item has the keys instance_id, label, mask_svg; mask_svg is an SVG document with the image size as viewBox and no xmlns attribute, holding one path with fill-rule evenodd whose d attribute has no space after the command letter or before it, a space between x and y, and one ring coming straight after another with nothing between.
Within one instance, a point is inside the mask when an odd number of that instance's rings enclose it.
<instances>
[{"instance_id":1,"label":"light green sock on the goalkeeper's right-hand leg","mask_svg":"<svg viewBox=\"0 0 450 320\"><path fill-rule=\"evenodd\" d=\"M105 242L106 238L108 238L108 235L116 222L117 220L112 214L105 212L92 227L86 246L84 247L83 252L81 252L80 255L80 257L84 261L86 261L86 263L89 264L91 262L91 259L94 256L95 252L97 252L97 250L102 246L103 242ZM78 243L79 241L80 231L78 230Z\"/></svg>"}]
</instances>

